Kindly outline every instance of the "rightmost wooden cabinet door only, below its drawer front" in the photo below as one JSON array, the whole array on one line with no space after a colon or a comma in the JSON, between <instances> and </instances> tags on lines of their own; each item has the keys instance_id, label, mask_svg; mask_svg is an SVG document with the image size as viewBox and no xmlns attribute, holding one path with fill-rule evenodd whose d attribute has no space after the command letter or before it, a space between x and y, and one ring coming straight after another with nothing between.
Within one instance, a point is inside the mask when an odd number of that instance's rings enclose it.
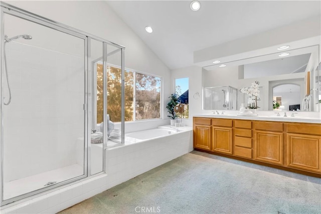
<instances>
[{"instance_id":1,"label":"rightmost wooden cabinet door only, below its drawer front","mask_svg":"<svg viewBox=\"0 0 321 214\"><path fill-rule=\"evenodd\" d=\"M287 134L287 166L320 172L321 136Z\"/></svg>"}]
</instances>

